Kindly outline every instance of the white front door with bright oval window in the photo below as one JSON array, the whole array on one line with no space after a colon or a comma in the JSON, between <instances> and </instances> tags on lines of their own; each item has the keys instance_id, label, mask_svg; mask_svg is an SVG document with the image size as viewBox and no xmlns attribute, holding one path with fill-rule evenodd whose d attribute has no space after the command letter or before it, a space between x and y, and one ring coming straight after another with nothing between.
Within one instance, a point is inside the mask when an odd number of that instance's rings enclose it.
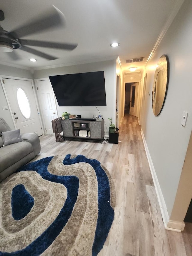
<instances>
[{"instance_id":1,"label":"white front door with bright oval window","mask_svg":"<svg viewBox=\"0 0 192 256\"><path fill-rule=\"evenodd\" d=\"M16 128L21 133L42 135L32 82L8 78L3 81Z\"/></svg>"}]
</instances>

